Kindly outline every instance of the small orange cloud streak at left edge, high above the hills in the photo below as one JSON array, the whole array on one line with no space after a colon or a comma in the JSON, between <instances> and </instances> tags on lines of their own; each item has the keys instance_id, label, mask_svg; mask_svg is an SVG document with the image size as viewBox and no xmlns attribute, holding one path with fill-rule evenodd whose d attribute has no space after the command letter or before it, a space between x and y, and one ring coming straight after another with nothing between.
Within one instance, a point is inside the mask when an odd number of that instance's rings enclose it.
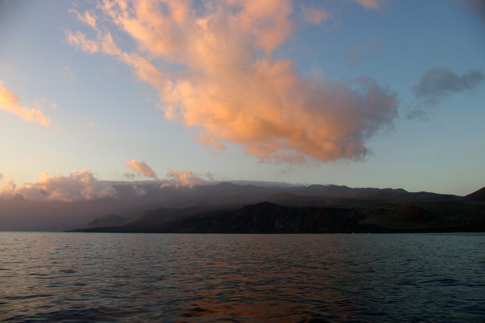
<instances>
[{"instance_id":1,"label":"small orange cloud streak at left edge, high above the hills","mask_svg":"<svg viewBox=\"0 0 485 323\"><path fill-rule=\"evenodd\" d=\"M20 106L20 99L15 93L3 85L0 80L0 109L16 114L24 120L36 121L44 126L50 125L50 119L42 115L42 111Z\"/></svg>"}]
</instances>

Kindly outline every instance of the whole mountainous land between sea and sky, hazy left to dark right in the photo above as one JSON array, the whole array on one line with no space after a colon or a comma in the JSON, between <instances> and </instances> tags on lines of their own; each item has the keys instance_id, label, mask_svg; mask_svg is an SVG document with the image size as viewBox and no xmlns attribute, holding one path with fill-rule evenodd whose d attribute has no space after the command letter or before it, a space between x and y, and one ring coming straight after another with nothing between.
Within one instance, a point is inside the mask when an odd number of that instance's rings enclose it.
<instances>
[{"instance_id":1,"label":"whole mountainous land between sea and sky, hazy left to dark right","mask_svg":"<svg viewBox=\"0 0 485 323\"><path fill-rule=\"evenodd\" d=\"M480 202L483 200L477 197L480 191L462 198L431 192L407 192L399 188L337 185L258 187L221 182L188 188L161 187L157 181L137 183L113 183L117 198L92 201L0 199L0 230L64 231L86 228L110 232L215 232L227 229L229 224L225 221L230 218L235 221L231 230L245 232L249 227L243 226L244 221L265 214L268 223L258 230L274 233L378 231L461 225L480 221L484 214L481 208L484 203ZM276 213L269 216L271 212ZM298 226L296 219L303 222ZM192 229L187 227L189 222L183 221L191 221ZM324 227L322 221L332 225ZM263 222L259 223L262 225Z\"/></svg>"}]
</instances>

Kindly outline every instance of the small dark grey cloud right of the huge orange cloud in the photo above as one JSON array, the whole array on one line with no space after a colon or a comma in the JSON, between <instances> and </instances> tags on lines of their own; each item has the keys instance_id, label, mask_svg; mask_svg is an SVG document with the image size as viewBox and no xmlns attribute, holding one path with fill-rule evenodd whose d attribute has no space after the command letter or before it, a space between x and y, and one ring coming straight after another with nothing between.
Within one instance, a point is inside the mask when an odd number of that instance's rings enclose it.
<instances>
[{"instance_id":1,"label":"small dark grey cloud right of the huge orange cloud","mask_svg":"<svg viewBox=\"0 0 485 323\"><path fill-rule=\"evenodd\" d=\"M421 77L420 84L412 88L417 99L435 105L443 97L454 92L471 90L485 80L482 69L469 70L459 76L450 68L434 68Z\"/></svg>"}]
</instances>

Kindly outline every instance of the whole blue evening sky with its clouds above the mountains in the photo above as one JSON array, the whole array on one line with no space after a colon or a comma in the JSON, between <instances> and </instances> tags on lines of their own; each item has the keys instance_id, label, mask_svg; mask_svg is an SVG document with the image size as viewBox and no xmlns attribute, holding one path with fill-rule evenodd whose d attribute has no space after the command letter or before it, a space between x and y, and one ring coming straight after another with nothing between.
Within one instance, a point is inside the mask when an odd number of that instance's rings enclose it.
<instances>
[{"instance_id":1,"label":"whole blue evening sky with its clouds above the mountains","mask_svg":"<svg viewBox=\"0 0 485 323\"><path fill-rule=\"evenodd\" d=\"M2 0L0 196L485 186L483 0Z\"/></svg>"}]
</instances>

